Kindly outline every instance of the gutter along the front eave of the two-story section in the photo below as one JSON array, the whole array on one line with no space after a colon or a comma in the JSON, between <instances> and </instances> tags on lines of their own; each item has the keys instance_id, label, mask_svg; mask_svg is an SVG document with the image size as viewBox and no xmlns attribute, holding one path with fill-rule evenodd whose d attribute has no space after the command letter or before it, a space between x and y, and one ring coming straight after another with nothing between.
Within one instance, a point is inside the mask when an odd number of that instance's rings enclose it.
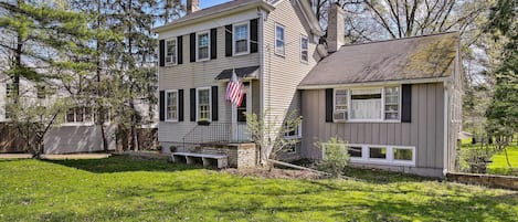
<instances>
[{"instance_id":1,"label":"gutter along the front eave of the two-story section","mask_svg":"<svg viewBox=\"0 0 518 222\"><path fill-rule=\"evenodd\" d=\"M151 31L155 32L155 33L163 32L163 31L177 29L177 28L180 28L180 27L190 25L192 23L213 20L213 19L219 18L219 17L225 17L225 15L229 15L231 13L237 13L237 12L241 12L241 11L246 11L246 10L254 9L254 8L263 8L266 11L272 11L272 10L275 9L275 7L273 7L272 4L266 3L264 1L246 2L246 3L234 6L230 9L229 8L223 8L221 10L214 11L212 13L200 15L198 18L192 18L192 19L189 19L189 20L186 20L186 21L171 22L169 24L165 24L165 25L161 25L161 27L154 28L154 29L151 29ZM203 10L201 10L201 11L203 11Z\"/></svg>"}]
</instances>

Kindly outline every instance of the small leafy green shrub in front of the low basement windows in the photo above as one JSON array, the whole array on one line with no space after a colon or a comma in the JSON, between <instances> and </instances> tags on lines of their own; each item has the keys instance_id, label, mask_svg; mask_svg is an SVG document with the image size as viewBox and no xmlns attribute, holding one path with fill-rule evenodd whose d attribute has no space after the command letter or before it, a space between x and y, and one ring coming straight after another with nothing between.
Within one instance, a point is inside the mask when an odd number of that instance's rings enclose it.
<instances>
[{"instance_id":1,"label":"small leafy green shrub in front of the low basement windows","mask_svg":"<svg viewBox=\"0 0 518 222\"><path fill-rule=\"evenodd\" d=\"M315 146L323 150L323 160L317 165L318 169L331 173L334 177L343 175L343 168L349 162L349 152L347 152L343 140L331 137L328 141L315 142Z\"/></svg>"}]
</instances>

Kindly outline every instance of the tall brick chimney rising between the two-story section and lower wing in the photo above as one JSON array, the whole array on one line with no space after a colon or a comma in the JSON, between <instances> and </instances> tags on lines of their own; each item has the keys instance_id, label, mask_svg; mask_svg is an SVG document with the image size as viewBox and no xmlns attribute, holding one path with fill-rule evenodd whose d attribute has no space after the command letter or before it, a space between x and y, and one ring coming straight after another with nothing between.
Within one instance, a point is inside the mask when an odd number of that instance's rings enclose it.
<instances>
[{"instance_id":1,"label":"tall brick chimney rising between the two-story section and lower wing","mask_svg":"<svg viewBox=\"0 0 518 222\"><path fill-rule=\"evenodd\" d=\"M327 51L329 53L338 51L345 43L343 13L343 9L341 9L340 4L331 3L329 6L326 39Z\"/></svg>"}]
</instances>

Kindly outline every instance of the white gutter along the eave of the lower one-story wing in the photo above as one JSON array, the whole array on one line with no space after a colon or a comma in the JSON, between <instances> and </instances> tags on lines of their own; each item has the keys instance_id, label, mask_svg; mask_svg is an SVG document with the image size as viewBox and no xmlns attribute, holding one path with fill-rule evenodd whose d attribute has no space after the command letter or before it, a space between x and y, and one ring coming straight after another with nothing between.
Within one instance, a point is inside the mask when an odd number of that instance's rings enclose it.
<instances>
[{"instance_id":1,"label":"white gutter along the eave of the lower one-story wing","mask_svg":"<svg viewBox=\"0 0 518 222\"><path fill-rule=\"evenodd\" d=\"M376 81L366 83L346 83L346 84L321 84L321 85L299 85L298 89L321 89L321 88L339 88L339 87L358 87L358 86L377 86L389 84L419 84L419 83L442 83L451 78L448 77L434 77L434 78L415 78L402 81Z\"/></svg>"}]
</instances>

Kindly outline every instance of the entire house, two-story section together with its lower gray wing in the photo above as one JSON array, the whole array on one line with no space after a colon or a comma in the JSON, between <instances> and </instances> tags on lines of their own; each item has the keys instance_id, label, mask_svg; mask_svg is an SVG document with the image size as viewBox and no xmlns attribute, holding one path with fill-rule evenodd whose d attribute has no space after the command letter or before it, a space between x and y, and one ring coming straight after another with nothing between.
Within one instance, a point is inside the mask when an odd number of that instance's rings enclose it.
<instances>
[{"instance_id":1,"label":"entire house, two-story section together with its lower gray wing","mask_svg":"<svg viewBox=\"0 0 518 222\"><path fill-rule=\"evenodd\" d=\"M351 161L441 177L455 163L461 113L458 34L345 45L343 11L329 9L326 43L308 1L235 0L156 28L159 35L159 141L247 141L244 112L304 118L300 142L284 158L324 158L315 141L337 136ZM232 72L246 95L225 101ZM268 133L264 133L268 134ZM272 138L275 139L275 138Z\"/></svg>"}]
</instances>

